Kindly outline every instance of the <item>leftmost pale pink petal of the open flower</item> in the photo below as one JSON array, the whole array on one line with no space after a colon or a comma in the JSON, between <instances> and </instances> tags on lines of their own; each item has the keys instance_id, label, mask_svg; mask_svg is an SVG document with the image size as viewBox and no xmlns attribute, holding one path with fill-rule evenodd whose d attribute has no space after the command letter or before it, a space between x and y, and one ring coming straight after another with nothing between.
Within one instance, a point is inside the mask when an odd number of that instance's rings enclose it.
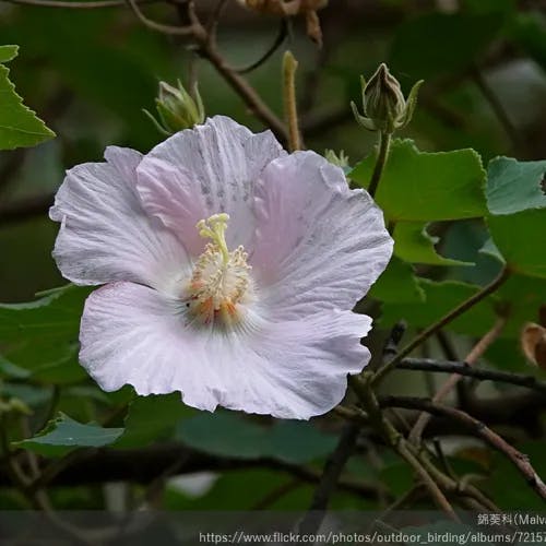
<instances>
[{"instance_id":1,"label":"leftmost pale pink petal of the open flower","mask_svg":"<svg viewBox=\"0 0 546 546\"><path fill-rule=\"evenodd\" d=\"M179 240L149 217L135 191L142 155L108 147L107 163L86 163L67 173L49 215L61 222L54 257L75 284L133 281L161 289L188 268Z\"/></svg>"}]
</instances>

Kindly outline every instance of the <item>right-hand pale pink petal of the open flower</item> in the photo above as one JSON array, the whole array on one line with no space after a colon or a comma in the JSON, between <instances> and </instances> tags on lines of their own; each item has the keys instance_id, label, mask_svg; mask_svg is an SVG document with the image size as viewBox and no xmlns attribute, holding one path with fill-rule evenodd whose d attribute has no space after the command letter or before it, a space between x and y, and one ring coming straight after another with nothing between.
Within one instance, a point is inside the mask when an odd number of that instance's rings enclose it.
<instances>
[{"instance_id":1,"label":"right-hand pale pink petal of the open flower","mask_svg":"<svg viewBox=\"0 0 546 546\"><path fill-rule=\"evenodd\" d=\"M351 309L383 272L393 241L364 190L313 152L272 162L256 186L250 263L275 317Z\"/></svg>"}]
</instances>

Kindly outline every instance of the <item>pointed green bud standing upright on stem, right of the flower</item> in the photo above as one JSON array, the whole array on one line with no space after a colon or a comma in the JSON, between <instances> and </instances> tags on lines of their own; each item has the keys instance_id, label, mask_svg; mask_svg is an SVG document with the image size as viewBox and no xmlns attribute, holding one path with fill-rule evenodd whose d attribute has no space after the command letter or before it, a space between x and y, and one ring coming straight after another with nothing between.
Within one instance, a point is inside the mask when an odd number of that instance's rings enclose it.
<instances>
[{"instance_id":1,"label":"pointed green bud standing upright on stem, right of the flower","mask_svg":"<svg viewBox=\"0 0 546 546\"><path fill-rule=\"evenodd\" d=\"M356 105L351 103L359 124L369 131L392 134L395 130L410 123L423 80L412 87L407 100L402 94L399 81L389 72L389 68L384 63L379 66L368 83L364 78L360 78L360 81L364 116L360 116Z\"/></svg>"}]
</instances>

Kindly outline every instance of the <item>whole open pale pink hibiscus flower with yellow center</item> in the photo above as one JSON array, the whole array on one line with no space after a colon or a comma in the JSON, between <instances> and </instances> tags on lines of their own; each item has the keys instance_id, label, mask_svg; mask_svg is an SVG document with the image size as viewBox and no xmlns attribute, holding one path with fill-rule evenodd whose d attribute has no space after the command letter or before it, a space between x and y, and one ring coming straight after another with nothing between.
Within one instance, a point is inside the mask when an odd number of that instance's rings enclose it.
<instances>
[{"instance_id":1,"label":"whole open pale pink hibiscus flower with yellow center","mask_svg":"<svg viewBox=\"0 0 546 546\"><path fill-rule=\"evenodd\" d=\"M368 193L222 116L105 158L69 170L50 211L64 277L105 284L80 332L97 383L283 418L337 404L370 356L351 309L392 252Z\"/></svg>"}]
</instances>

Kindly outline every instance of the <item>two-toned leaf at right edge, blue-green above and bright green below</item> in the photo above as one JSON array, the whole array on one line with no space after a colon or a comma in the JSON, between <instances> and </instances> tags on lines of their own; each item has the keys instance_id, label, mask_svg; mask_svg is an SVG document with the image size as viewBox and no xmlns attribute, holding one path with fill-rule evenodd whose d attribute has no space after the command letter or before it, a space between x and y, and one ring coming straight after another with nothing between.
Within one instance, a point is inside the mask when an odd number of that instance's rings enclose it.
<instances>
[{"instance_id":1,"label":"two-toned leaf at right edge, blue-green above and bright green below","mask_svg":"<svg viewBox=\"0 0 546 546\"><path fill-rule=\"evenodd\" d=\"M499 157L489 164L487 224L512 272L546 278L546 162Z\"/></svg>"}]
</instances>

